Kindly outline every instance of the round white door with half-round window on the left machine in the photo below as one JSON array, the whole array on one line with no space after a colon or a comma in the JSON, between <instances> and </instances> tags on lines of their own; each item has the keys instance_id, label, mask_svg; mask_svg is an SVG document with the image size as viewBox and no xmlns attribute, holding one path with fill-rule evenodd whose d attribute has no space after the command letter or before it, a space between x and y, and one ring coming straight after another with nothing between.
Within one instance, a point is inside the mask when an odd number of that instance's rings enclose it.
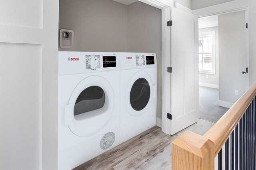
<instances>
[{"instance_id":1,"label":"round white door with half-round window on the left machine","mask_svg":"<svg viewBox=\"0 0 256 170\"><path fill-rule=\"evenodd\" d=\"M114 91L110 83L101 76L87 77L70 96L65 107L65 125L77 136L92 136L108 124L114 104Z\"/></svg>"}]
</instances>

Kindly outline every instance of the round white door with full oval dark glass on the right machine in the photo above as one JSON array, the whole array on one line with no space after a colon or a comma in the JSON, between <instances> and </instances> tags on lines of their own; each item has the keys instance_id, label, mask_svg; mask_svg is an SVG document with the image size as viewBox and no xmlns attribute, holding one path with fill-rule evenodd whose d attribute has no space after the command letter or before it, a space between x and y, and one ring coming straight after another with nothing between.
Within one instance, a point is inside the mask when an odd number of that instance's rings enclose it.
<instances>
[{"instance_id":1,"label":"round white door with full oval dark glass on the right machine","mask_svg":"<svg viewBox=\"0 0 256 170\"><path fill-rule=\"evenodd\" d=\"M128 82L125 105L132 116L140 116L150 107L153 96L153 84L148 73L136 72Z\"/></svg>"}]
</instances>

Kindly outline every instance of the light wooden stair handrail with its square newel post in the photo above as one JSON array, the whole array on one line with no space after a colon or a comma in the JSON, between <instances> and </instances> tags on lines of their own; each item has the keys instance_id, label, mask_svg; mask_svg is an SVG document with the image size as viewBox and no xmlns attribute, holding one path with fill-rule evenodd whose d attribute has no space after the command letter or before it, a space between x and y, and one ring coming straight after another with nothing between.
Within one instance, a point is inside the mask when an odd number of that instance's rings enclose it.
<instances>
[{"instance_id":1,"label":"light wooden stair handrail with its square newel post","mask_svg":"<svg viewBox=\"0 0 256 170\"><path fill-rule=\"evenodd\" d=\"M186 131L172 142L172 170L214 170L214 158L256 96L256 83L203 135Z\"/></svg>"}]
</instances>

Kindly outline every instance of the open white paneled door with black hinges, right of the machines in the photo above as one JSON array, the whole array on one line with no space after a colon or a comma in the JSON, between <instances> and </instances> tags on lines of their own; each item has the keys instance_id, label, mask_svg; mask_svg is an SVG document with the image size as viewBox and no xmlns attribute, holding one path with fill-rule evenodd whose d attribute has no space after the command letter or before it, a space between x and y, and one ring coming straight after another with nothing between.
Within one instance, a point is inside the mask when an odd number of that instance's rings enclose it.
<instances>
[{"instance_id":1,"label":"open white paneled door with black hinges, right of the machines","mask_svg":"<svg viewBox=\"0 0 256 170\"><path fill-rule=\"evenodd\" d=\"M170 135L198 121L198 17L171 8Z\"/></svg>"}]
</instances>

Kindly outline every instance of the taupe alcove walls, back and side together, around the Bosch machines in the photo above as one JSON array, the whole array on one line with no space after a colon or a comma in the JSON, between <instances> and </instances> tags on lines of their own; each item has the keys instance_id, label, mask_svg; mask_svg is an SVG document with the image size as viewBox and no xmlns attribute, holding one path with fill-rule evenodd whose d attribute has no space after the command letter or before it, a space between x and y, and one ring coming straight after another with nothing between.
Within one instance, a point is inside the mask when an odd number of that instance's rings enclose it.
<instances>
[{"instance_id":1,"label":"taupe alcove walls, back and side together, around the Bosch machines","mask_svg":"<svg viewBox=\"0 0 256 170\"><path fill-rule=\"evenodd\" d=\"M187 0L186 0L187 1ZM60 0L59 29L74 31L74 44L59 51L156 53L158 63L157 117L162 99L162 12L142 2Z\"/></svg>"}]
</instances>

